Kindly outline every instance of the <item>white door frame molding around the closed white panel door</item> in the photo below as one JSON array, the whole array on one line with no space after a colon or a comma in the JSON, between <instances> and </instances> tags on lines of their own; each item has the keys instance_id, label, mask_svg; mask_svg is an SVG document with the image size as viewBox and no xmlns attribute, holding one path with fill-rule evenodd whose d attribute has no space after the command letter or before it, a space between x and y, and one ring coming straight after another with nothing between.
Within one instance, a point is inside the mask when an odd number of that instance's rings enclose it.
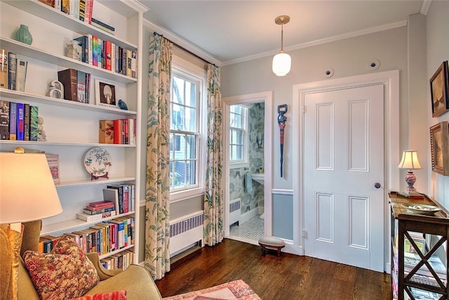
<instances>
[{"instance_id":1,"label":"white door frame molding around the closed white panel door","mask_svg":"<svg viewBox=\"0 0 449 300\"><path fill-rule=\"evenodd\" d=\"M338 89L384 85L384 245L389 245L388 192L398 190L399 183L399 70L362 74L293 85L293 162L304 164L304 97L309 93ZM304 255L304 186L303 168L293 168L293 244ZM384 247L384 270L389 270L389 247Z\"/></svg>"}]
</instances>

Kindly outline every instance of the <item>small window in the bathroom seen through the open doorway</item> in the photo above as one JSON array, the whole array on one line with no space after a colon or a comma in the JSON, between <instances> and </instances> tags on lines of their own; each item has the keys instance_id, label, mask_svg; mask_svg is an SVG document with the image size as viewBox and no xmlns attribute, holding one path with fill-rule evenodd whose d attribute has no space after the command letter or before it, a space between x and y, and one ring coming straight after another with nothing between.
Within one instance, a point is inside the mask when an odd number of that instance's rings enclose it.
<instances>
[{"instance_id":1,"label":"small window in the bathroom seen through the open doorway","mask_svg":"<svg viewBox=\"0 0 449 300\"><path fill-rule=\"evenodd\" d=\"M229 106L229 162L248 163L248 108L243 105Z\"/></svg>"}]
</instances>

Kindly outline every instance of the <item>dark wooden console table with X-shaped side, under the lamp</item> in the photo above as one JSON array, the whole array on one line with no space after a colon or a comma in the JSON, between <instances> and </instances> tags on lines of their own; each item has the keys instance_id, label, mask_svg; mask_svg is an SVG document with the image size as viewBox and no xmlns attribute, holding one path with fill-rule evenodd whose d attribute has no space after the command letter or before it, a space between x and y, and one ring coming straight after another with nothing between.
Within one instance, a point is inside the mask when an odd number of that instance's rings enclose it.
<instances>
[{"instance_id":1,"label":"dark wooden console table with X-shaped side, under the lamp","mask_svg":"<svg viewBox=\"0 0 449 300\"><path fill-rule=\"evenodd\" d=\"M425 299L448 299L448 211L427 196L409 199L391 192L389 202L393 299L418 299L424 294ZM442 210L426 216L408 211L405 204L430 204Z\"/></svg>"}]
</instances>

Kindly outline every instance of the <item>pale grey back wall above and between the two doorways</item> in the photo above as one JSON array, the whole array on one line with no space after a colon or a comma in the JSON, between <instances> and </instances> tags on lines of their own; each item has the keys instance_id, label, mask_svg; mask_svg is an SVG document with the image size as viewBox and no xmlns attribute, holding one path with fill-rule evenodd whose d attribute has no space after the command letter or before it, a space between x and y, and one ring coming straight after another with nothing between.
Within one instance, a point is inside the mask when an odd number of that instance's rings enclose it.
<instances>
[{"instance_id":1,"label":"pale grey back wall above and between the two doorways","mask_svg":"<svg viewBox=\"0 0 449 300\"><path fill-rule=\"evenodd\" d=\"M291 160L294 149L292 148L290 138L293 136L293 130L295 130L292 128L292 118L295 116L291 115L293 85L326 80L324 72L328 70L328 67L332 67L335 70L332 78L349 77L369 72L400 70L400 130L401 133L408 132L406 131L408 128L407 33L407 27L399 27L393 30L291 51L289 54L292 58L292 70L286 77L276 77L273 74L271 70L272 57L260 58L221 68L223 97L272 90L274 91L274 111L272 112L274 119L277 118L277 105L284 103L289 105L290 110L286 114L288 119L285 129L283 178L280 177L279 171L279 127L277 122L273 124L272 152L274 157L272 159L274 189L292 190L293 168L300 167ZM367 67L373 58L380 60L380 68L376 71L370 71ZM424 112L422 118L425 119ZM401 134L400 145L401 150L408 148L408 134ZM397 155L399 156L400 153ZM417 174L417 176L419 175ZM425 177L420 178L420 183L424 188L427 186ZM402 184L404 188L406 185L405 181Z\"/></svg>"}]
</instances>

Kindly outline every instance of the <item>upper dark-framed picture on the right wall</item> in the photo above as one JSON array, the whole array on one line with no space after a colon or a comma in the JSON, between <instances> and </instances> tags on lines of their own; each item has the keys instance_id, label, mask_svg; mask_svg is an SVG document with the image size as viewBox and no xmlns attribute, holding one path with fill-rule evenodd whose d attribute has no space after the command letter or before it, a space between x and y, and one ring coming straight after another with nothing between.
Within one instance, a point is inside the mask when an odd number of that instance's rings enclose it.
<instances>
[{"instance_id":1,"label":"upper dark-framed picture on the right wall","mask_svg":"<svg viewBox=\"0 0 449 300\"><path fill-rule=\"evenodd\" d=\"M449 110L448 60L438 67L430 79L432 117L443 115Z\"/></svg>"}]
</instances>

